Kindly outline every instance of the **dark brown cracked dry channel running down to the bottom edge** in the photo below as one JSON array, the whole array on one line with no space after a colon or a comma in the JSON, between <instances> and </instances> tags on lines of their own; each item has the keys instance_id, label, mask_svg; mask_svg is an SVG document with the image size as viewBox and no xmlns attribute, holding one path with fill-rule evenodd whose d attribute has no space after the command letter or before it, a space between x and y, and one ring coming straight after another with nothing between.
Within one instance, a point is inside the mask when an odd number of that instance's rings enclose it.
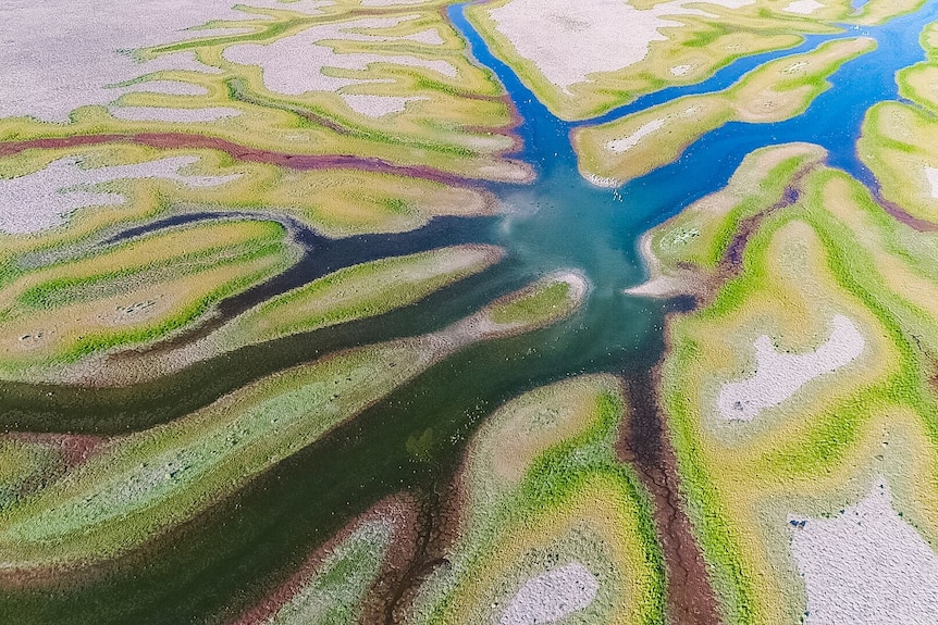
<instances>
[{"instance_id":1,"label":"dark brown cracked dry channel running down to the bottom edge","mask_svg":"<svg viewBox=\"0 0 938 625\"><path fill-rule=\"evenodd\" d=\"M629 418L624 422L617 454L628 462L652 495L654 521L668 579L668 618L674 625L721 622L706 562L683 510L677 457L658 402L659 368L627 383Z\"/></svg>"}]
</instances>

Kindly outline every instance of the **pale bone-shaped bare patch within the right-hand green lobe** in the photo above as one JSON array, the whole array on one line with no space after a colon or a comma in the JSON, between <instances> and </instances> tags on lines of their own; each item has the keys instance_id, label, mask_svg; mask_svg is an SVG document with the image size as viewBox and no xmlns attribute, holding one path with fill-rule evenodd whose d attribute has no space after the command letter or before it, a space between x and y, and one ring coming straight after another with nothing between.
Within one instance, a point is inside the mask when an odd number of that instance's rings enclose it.
<instances>
[{"instance_id":1,"label":"pale bone-shaped bare patch within the right-hand green lobe","mask_svg":"<svg viewBox=\"0 0 938 625\"><path fill-rule=\"evenodd\" d=\"M723 386L717 398L719 415L727 421L752 421L763 410L780 404L805 384L847 365L863 352L866 341L853 322L835 315L830 326L830 338L807 353L779 353L769 337L758 337L754 345L755 374Z\"/></svg>"}]
</instances>

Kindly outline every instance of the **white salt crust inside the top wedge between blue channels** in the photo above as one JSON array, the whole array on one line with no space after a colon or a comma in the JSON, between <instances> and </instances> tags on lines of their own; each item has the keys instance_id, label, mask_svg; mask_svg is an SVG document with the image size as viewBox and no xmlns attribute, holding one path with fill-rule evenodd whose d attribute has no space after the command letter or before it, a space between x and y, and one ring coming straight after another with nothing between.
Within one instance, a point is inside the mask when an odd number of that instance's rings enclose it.
<instances>
[{"instance_id":1,"label":"white salt crust inside the top wedge between blue channels","mask_svg":"<svg viewBox=\"0 0 938 625\"><path fill-rule=\"evenodd\" d=\"M666 16L707 15L700 7L739 9L753 1L674 0L640 10L625 0L511 0L489 14L518 54L571 95L570 87L589 82L590 74L628 67L647 55L650 43L666 41L661 28L680 26ZM577 53L570 54L570 50Z\"/></svg>"}]
</instances>

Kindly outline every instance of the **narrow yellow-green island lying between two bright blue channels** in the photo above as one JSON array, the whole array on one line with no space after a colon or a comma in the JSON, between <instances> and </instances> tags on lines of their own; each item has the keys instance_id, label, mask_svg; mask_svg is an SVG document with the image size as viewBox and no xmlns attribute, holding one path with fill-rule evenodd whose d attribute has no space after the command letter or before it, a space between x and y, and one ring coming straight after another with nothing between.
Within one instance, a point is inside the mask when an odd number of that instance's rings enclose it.
<instances>
[{"instance_id":1,"label":"narrow yellow-green island lying between two bright blue channels","mask_svg":"<svg viewBox=\"0 0 938 625\"><path fill-rule=\"evenodd\" d=\"M872 51L868 38L837 39L814 50L776 59L723 91L684 96L572 134L580 173L618 186L680 157L704 134L729 122L781 122L804 112L830 87L827 78L851 59Z\"/></svg>"}]
</instances>

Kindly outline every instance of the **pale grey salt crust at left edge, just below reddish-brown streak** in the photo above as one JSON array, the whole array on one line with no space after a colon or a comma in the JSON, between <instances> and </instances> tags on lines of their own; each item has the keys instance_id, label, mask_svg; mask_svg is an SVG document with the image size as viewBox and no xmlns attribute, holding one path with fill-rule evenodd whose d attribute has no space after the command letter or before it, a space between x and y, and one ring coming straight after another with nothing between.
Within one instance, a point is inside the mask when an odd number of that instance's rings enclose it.
<instances>
[{"instance_id":1,"label":"pale grey salt crust at left edge, just below reddish-brown streak","mask_svg":"<svg viewBox=\"0 0 938 625\"><path fill-rule=\"evenodd\" d=\"M0 178L0 232L28 234L64 223L72 212L91 205L119 205L120 193L95 191L89 187L126 178L165 178L188 187L214 187L235 178L192 176L180 170L196 163L197 157L172 157L109 167L84 168L79 158L64 158L18 178Z\"/></svg>"}]
</instances>

